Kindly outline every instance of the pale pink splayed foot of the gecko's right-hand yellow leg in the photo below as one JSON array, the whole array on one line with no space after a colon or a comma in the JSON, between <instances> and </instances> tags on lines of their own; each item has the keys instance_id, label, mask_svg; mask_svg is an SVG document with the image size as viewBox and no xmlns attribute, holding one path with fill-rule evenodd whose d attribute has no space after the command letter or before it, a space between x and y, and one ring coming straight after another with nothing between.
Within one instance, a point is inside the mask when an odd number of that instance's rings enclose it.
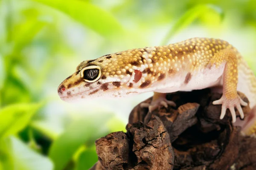
<instances>
[{"instance_id":1,"label":"pale pink splayed foot of the gecko's right-hand yellow leg","mask_svg":"<svg viewBox=\"0 0 256 170\"><path fill-rule=\"evenodd\" d=\"M232 122L236 122L236 111L235 111L235 107L237 108L237 110L239 111L240 117L241 119L244 119L244 112L241 108L242 106L247 106L247 102L244 102L240 96L237 95L237 98L235 99L227 99L226 96L222 96L221 99L216 100L214 102L212 102L213 105L221 105L222 104L222 108L221 108L221 116L220 119L223 119L227 109L230 110L231 116L232 116Z\"/></svg>"}]
</instances>

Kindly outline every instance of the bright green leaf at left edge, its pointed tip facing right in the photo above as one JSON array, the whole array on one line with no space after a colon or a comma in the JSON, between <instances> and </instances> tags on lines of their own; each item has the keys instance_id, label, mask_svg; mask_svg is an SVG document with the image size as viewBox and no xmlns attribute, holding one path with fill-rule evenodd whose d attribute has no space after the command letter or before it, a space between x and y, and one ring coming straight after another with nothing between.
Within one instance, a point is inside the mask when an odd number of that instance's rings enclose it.
<instances>
[{"instance_id":1,"label":"bright green leaf at left edge, its pointed tip facing right","mask_svg":"<svg viewBox=\"0 0 256 170\"><path fill-rule=\"evenodd\" d=\"M0 110L0 139L16 134L29 123L42 104L13 104Z\"/></svg>"}]
</instances>

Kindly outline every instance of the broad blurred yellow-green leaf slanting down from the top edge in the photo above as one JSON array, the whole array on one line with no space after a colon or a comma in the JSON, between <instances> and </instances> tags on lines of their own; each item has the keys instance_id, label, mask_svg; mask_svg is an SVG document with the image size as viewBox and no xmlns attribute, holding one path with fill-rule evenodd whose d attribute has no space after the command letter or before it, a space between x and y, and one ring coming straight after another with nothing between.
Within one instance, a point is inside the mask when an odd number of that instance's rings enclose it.
<instances>
[{"instance_id":1,"label":"broad blurred yellow-green leaf slanting down from the top edge","mask_svg":"<svg viewBox=\"0 0 256 170\"><path fill-rule=\"evenodd\" d=\"M106 37L119 36L123 28L107 11L83 0L34 0L62 11Z\"/></svg>"}]
</instances>

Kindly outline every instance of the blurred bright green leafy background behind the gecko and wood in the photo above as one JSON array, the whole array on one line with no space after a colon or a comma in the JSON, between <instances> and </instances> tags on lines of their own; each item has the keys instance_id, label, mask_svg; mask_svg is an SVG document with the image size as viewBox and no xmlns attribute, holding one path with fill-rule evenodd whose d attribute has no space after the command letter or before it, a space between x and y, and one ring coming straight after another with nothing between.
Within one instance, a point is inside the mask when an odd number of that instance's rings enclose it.
<instances>
[{"instance_id":1,"label":"blurred bright green leafy background behind the gecko and wood","mask_svg":"<svg viewBox=\"0 0 256 170\"><path fill-rule=\"evenodd\" d=\"M255 7L255 0L0 0L0 170L85 170L97 161L94 141L125 130L103 104L79 114L58 103L58 84L82 60L198 35L191 30L231 40L239 32L256 71Z\"/></svg>"}]
</instances>

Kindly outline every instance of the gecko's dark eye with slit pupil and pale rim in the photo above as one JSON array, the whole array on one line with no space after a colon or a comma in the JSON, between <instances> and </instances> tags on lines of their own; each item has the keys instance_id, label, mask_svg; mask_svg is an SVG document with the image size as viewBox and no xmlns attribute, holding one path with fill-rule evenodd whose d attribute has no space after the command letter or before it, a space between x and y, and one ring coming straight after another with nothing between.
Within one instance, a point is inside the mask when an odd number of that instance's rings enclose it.
<instances>
[{"instance_id":1,"label":"gecko's dark eye with slit pupil and pale rim","mask_svg":"<svg viewBox=\"0 0 256 170\"><path fill-rule=\"evenodd\" d=\"M81 77L86 82L96 82L101 76L100 67L96 65L90 65L81 70Z\"/></svg>"}]
</instances>

